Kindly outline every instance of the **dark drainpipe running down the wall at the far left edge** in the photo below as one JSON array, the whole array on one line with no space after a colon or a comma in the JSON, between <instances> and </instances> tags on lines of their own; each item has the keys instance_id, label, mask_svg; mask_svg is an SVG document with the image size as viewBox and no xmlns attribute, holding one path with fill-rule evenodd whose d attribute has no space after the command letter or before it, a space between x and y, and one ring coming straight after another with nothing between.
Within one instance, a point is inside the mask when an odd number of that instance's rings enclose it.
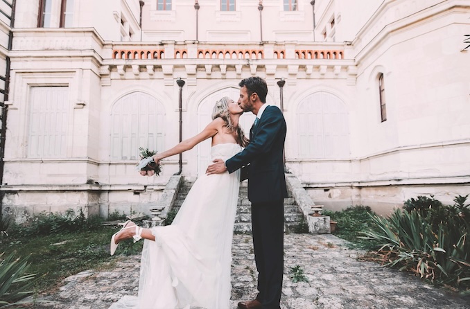
<instances>
[{"instance_id":1,"label":"dark drainpipe running down the wall at the far left edge","mask_svg":"<svg viewBox=\"0 0 470 309\"><path fill-rule=\"evenodd\" d=\"M8 51L12 50L13 32L12 28L15 26L15 7L16 0L12 1L11 4L11 17L10 17L10 33L8 33ZM8 5L8 3L7 3ZM5 144L6 144L6 121L8 116L8 105L5 102L8 101L10 94L10 56L6 56L6 73L5 73L5 93L3 94L3 103L0 103L2 109L1 113L1 128L0 128L0 186L3 185L3 170L5 167ZM3 193L0 191L0 218L2 217L3 210Z\"/></svg>"}]
</instances>

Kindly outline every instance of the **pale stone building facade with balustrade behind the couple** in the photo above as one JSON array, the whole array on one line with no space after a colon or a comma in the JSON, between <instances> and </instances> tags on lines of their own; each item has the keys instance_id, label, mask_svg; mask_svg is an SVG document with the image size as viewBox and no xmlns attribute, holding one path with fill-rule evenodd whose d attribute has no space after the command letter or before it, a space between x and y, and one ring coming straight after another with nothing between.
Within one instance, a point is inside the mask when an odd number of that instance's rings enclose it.
<instances>
[{"instance_id":1,"label":"pale stone building facade with balustrade behind the couple","mask_svg":"<svg viewBox=\"0 0 470 309\"><path fill-rule=\"evenodd\" d=\"M141 177L138 148L179 141L180 90L186 139L248 76L282 107L286 166L316 204L451 203L470 193L469 12L469 0L16 1L14 26L0 21L2 42L13 35L0 50L3 210L146 213L179 160ZM204 173L209 147L182 155L184 176Z\"/></svg>"}]
</instances>

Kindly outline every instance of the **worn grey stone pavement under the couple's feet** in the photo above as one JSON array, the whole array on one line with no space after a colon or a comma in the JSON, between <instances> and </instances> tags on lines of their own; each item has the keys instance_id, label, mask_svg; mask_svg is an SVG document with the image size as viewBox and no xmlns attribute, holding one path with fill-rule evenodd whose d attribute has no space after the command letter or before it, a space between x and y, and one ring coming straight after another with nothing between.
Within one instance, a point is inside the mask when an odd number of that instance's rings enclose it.
<instances>
[{"instance_id":1,"label":"worn grey stone pavement under the couple's feet","mask_svg":"<svg viewBox=\"0 0 470 309\"><path fill-rule=\"evenodd\" d=\"M433 288L415 276L357 261L363 251L347 249L347 242L333 235L288 234L284 251L282 309L470 308L468 299ZM252 299L256 292L251 236L235 235L232 253L232 308L236 308L238 301ZM67 278L56 294L45 298L51 303L35 308L119 308L116 302L121 297L137 295L140 256L117 259L112 270L90 270ZM302 267L308 283L290 279L295 265Z\"/></svg>"}]
</instances>

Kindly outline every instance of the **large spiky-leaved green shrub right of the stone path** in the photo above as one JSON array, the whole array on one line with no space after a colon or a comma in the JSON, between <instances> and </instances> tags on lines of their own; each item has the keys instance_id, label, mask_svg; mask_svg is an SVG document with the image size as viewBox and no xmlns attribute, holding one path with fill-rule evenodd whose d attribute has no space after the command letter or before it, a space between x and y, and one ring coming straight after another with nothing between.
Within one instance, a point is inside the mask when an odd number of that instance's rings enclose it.
<instances>
[{"instance_id":1,"label":"large spiky-leaved green shrub right of the stone path","mask_svg":"<svg viewBox=\"0 0 470 309\"><path fill-rule=\"evenodd\" d=\"M467 196L444 206L433 198L418 197L397 209L390 218L371 215L380 228L365 238L381 244L378 254L385 265L419 274L438 285L470 289L470 209ZM430 203L426 207L424 203ZM426 205L426 204L424 204Z\"/></svg>"}]
</instances>

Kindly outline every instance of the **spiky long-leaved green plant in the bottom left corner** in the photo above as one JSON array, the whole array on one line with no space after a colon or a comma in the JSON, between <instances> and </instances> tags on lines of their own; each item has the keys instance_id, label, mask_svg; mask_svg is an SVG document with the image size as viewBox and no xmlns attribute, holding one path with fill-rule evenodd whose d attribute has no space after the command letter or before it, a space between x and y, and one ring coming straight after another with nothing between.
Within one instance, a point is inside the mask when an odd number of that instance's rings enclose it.
<instances>
[{"instance_id":1,"label":"spiky long-leaved green plant in the bottom left corner","mask_svg":"<svg viewBox=\"0 0 470 309\"><path fill-rule=\"evenodd\" d=\"M3 258L0 254L0 308L30 303L21 301L33 294L31 287L35 283L35 274L26 274L28 257L16 258L15 252Z\"/></svg>"}]
</instances>

